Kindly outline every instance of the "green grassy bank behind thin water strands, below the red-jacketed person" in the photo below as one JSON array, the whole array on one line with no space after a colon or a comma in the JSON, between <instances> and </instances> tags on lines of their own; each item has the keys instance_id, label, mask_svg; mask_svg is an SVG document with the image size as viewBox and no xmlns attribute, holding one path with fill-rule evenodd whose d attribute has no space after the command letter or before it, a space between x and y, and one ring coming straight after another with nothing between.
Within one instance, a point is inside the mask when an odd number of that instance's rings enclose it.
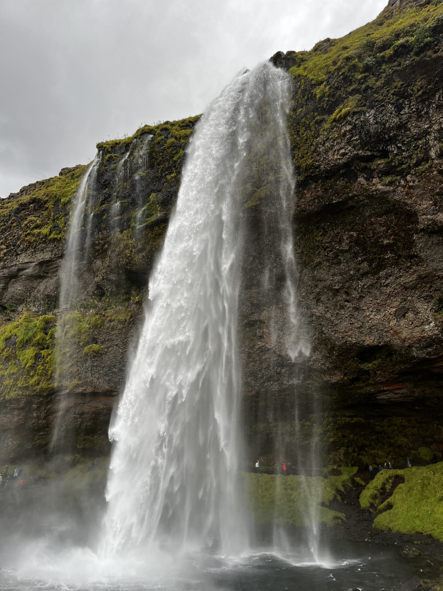
<instances>
[{"instance_id":1,"label":"green grassy bank behind thin water strands, below the red-jacketed person","mask_svg":"<svg viewBox=\"0 0 443 591\"><path fill-rule=\"evenodd\" d=\"M345 521L344 514L328 508L340 501L340 492L351 487L348 473L341 476L275 476L243 473L250 506L257 524L291 524L304 526L313 519L328 527ZM314 512L311 511L314 501Z\"/></svg>"}]
</instances>

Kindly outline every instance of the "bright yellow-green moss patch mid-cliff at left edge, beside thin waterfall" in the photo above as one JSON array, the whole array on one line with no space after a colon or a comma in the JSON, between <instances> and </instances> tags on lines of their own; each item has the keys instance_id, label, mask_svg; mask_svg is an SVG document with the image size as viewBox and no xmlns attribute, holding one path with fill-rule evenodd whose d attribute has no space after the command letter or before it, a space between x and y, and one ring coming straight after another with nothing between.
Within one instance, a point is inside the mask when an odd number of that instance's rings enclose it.
<instances>
[{"instance_id":1,"label":"bright yellow-green moss patch mid-cliff at left edge, beside thin waterfall","mask_svg":"<svg viewBox=\"0 0 443 591\"><path fill-rule=\"evenodd\" d=\"M0 328L0 398L53 389L55 322L27 313Z\"/></svg>"}]
</instances>

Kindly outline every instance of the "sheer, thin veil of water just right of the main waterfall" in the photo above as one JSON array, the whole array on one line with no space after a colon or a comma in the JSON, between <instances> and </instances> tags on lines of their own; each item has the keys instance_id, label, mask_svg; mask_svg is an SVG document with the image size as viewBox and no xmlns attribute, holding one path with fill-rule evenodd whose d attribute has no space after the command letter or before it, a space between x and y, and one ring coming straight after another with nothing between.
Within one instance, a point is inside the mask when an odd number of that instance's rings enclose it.
<instances>
[{"instance_id":1,"label":"sheer, thin veil of water just right of the main waterfall","mask_svg":"<svg viewBox=\"0 0 443 591\"><path fill-rule=\"evenodd\" d=\"M266 91L257 93L253 101L255 120L249 121L247 165L242 183L247 212L251 212L247 214L249 268L245 269L247 278L244 284L249 293L252 285L258 288L255 306L262 310L260 322L263 323L264 319L269 333L266 345L279 358L288 360L285 361L288 381L297 384L298 366L302 359L310 355L310 344L301 323L297 301L298 273L294 249L295 175L287 133L287 116L291 106L289 77L282 72L273 72L273 76L266 82ZM249 372L247 367L245 369ZM302 421L299 416L298 395L295 386L291 404L283 410L278 408L278 401L272 400L269 406L266 405L262 420L274 421L278 425L273 437L274 458L280 461L285 459L286 462L292 459L294 467L297 467L299 478L294 486L301 488L305 499L306 510L302 512L300 521L307 532L305 539L299 541L301 548L298 550L301 550L302 560L318 562L320 497L317 489L321 489L321 483L318 479L311 480L306 476L307 472L318 466L317 449L312 437L307 446L307 456L299 451ZM266 400L269 400L268 397ZM285 427L288 423L295 425L296 451L291 458L285 455ZM284 484L280 478L275 481L276 507L280 504L281 486ZM273 548L276 552L290 553L291 547L294 547L294 543L289 543L285 528L276 516Z\"/></svg>"}]
</instances>

